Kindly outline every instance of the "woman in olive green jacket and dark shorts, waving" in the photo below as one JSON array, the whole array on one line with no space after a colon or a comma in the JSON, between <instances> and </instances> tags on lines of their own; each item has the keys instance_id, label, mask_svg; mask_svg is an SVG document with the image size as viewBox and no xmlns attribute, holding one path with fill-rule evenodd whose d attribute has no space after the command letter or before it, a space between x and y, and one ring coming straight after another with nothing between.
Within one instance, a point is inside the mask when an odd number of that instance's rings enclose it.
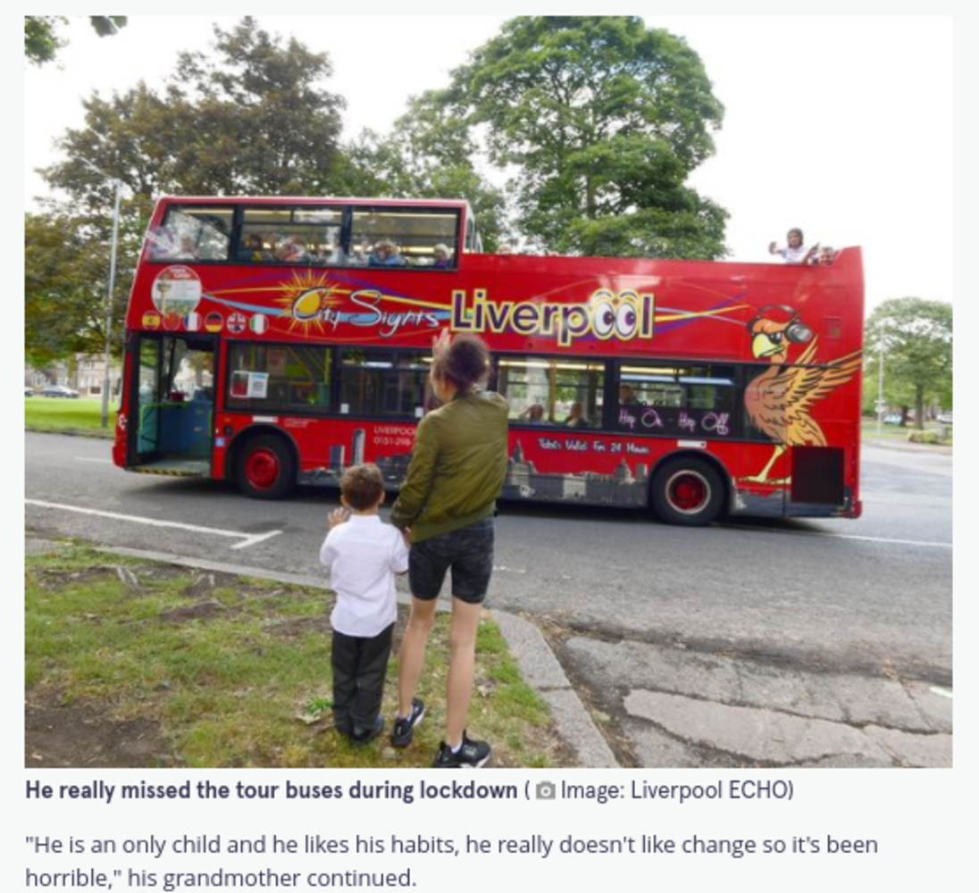
<instances>
[{"instance_id":1,"label":"woman in olive green jacket and dark shorts, waving","mask_svg":"<svg viewBox=\"0 0 979 893\"><path fill-rule=\"evenodd\" d=\"M506 400L482 389L489 351L473 335L436 340L432 387L443 405L419 423L411 462L391 512L410 532L411 614L398 663L398 710L391 742L411 743L425 705L415 697L436 599L451 570L452 621L445 737L437 769L482 766L489 744L466 733L476 666L476 632L489 588L493 515L507 467Z\"/></svg>"}]
</instances>

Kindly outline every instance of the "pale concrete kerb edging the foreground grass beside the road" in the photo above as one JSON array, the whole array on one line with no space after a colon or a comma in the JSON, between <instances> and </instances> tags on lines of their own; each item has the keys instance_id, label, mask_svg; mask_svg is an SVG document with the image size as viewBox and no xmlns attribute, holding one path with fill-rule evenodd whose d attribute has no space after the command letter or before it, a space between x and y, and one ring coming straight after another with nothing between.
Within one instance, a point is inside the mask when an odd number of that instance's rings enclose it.
<instances>
[{"instance_id":1,"label":"pale concrete kerb edging the foreground grass beside the road","mask_svg":"<svg viewBox=\"0 0 979 893\"><path fill-rule=\"evenodd\" d=\"M59 543L55 541L28 538L24 543L24 551L30 553L58 545ZM108 554L126 555L131 558L159 561L214 573L233 574L237 577L254 577L257 580L271 580L276 583L317 589L330 588L324 578L306 574L267 571L263 568L209 561L205 558L182 558L166 552L121 546L113 548L97 546L96 549ZM409 604L411 596L406 592L398 592L397 600L401 604ZM439 610L447 611L449 607L440 601ZM565 676L564 670L540 631L534 624L515 614L499 610L490 610L489 614L506 639L507 646L517 661L525 681L533 685L547 702L558 733L575 750L581 765L589 769L618 768L619 764L605 738L588 716L578 692Z\"/></svg>"}]
</instances>

